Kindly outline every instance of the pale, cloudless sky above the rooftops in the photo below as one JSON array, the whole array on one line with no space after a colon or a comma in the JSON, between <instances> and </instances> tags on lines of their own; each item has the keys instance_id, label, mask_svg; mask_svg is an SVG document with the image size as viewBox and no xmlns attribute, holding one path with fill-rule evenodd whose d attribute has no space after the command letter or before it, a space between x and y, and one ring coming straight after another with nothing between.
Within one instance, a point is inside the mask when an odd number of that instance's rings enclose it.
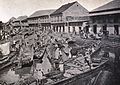
<instances>
[{"instance_id":1,"label":"pale, cloudless sky above the rooftops","mask_svg":"<svg viewBox=\"0 0 120 85\"><path fill-rule=\"evenodd\" d=\"M30 16L37 10L57 9L61 5L78 1L89 11L112 0L0 0L0 21L7 22L11 17Z\"/></svg>"}]
</instances>

